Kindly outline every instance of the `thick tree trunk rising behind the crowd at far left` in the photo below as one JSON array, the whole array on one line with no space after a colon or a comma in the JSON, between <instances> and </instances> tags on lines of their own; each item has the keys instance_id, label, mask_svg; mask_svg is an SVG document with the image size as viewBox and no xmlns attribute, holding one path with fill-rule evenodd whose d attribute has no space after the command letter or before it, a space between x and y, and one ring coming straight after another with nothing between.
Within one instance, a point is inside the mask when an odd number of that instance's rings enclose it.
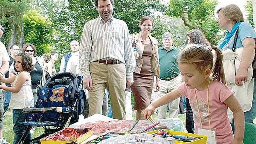
<instances>
[{"instance_id":1,"label":"thick tree trunk rising behind the crowd at far left","mask_svg":"<svg viewBox=\"0 0 256 144\"><path fill-rule=\"evenodd\" d=\"M10 51L11 45L17 45L22 48L24 44L24 25L23 25L23 15L15 15L13 18L13 27L11 32L11 38L8 41L7 51Z\"/></svg>"}]
</instances>

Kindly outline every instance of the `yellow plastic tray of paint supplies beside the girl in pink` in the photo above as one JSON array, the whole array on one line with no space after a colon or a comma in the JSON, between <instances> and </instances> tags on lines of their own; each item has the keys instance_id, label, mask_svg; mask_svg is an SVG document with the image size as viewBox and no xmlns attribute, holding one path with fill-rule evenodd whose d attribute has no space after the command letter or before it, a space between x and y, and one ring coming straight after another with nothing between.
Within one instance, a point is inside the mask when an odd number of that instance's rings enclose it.
<instances>
[{"instance_id":1,"label":"yellow plastic tray of paint supplies beside the girl in pink","mask_svg":"<svg viewBox=\"0 0 256 144\"><path fill-rule=\"evenodd\" d=\"M171 135L202 137L198 140L191 141L191 142L183 142L183 141L175 140L175 142L174 142L175 144L206 144L207 137L208 137L208 136L204 136L204 135L190 134L190 133L186 133L186 132L172 131L172 130L168 130L168 129L163 129L163 130L166 131L168 134L171 134ZM147 132L147 134L154 134L156 132L157 132L157 130L154 130L154 131Z\"/></svg>"}]
</instances>

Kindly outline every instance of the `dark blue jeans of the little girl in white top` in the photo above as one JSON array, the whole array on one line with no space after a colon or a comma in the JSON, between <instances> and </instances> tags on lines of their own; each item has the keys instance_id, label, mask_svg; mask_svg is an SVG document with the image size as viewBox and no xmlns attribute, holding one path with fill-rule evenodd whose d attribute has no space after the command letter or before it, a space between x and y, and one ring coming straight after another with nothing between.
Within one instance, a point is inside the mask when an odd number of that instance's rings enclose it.
<instances>
[{"instance_id":1,"label":"dark blue jeans of the little girl in white top","mask_svg":"<svg viewBox=\"0 0 256 144\"><path fill-rule=\"evenodd\" d=\"M26 120L26 114L22 113L21 109L13 109L13 131L14 131L14 140L13 144L17 144L22 137L27 126L21 125L18 122L24 122ZM30 144L28 141L31 139L31 134L27 136L24 144Z\"/></svg>"}]
</instances>

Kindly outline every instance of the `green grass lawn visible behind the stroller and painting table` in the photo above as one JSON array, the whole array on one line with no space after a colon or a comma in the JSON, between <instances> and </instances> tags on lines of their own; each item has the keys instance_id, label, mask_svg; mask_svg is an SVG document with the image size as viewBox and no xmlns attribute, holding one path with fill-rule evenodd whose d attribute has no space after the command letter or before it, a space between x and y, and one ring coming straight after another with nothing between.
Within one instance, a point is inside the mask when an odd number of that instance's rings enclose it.
<instances>
[{"instance_id":1,"label":"green grass lawn visible behind the stroller and painting table","mask_svg":"<svg viewBox=\"0 0 256 144\"><path fill-rule=\"evenodd\" d=\"M133 119L135 119L135 111L133 111ZM168 116L168 114L167 114ZM153 119L158 119L157 115L154 114L152 116ZM185 119L186 115L185 114L180 114L179 118L185 125ZM254 120L254 123L256 123L256 119ZM32 138L39 136L40 134L43 133L43 128L42 127L36 127L34 130L34 134L32 134ZM14 138L14 132L13 132L13 115L12 111L8 109L5 113L5 117L3 120L3 138L5 138L9 143L13 143L13 138Z\"/></svg>"}]
</instances>

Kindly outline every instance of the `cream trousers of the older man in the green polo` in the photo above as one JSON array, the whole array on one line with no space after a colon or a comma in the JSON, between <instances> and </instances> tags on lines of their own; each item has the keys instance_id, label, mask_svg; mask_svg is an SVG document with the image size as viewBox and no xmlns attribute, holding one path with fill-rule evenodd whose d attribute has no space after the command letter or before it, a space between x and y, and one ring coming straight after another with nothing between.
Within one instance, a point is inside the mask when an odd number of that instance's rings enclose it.
<instances>
[{"instance_id":1,"label":"cream trousers of the older man in the green polo","mask_svg":"<svg viewBox=\"0 0 256 144\"><path fill-rule=\"evenodd\" d=\"M160 98L166 93L172 92L179 88L180 77L176 77L170 81L160 80L160 90L156 93L157 97ZM169 118L178 118L179 114L179 100L180 98L175 99L169 103ZM160 106L158 109L158 118L166 118L167 104Z\"/></svg>"}]
</instances>

